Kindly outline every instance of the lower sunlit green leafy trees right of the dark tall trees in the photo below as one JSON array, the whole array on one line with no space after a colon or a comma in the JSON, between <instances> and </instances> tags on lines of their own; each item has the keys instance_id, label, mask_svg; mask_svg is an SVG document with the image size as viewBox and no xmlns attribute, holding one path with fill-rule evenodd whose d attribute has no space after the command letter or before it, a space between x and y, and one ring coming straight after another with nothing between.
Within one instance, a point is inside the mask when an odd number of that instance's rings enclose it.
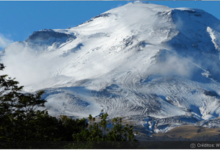
<instances>
[{"instance_id":1,"label":"lower sunlit green leafy trees right of the dark tall trees","mask_svg":"<svg viewBox=\"0 0 220 150\"><path fill-rule=\"evenodd\" d=\"M101 121L89 125L82 132L73 134L74 143L65 148L137 148L133 126L122 126L122 118L113 118L113 128L107 129L108 114L101 114ZM92 121L92 116L89 115Z\"/></svg>"}]
</instances>

